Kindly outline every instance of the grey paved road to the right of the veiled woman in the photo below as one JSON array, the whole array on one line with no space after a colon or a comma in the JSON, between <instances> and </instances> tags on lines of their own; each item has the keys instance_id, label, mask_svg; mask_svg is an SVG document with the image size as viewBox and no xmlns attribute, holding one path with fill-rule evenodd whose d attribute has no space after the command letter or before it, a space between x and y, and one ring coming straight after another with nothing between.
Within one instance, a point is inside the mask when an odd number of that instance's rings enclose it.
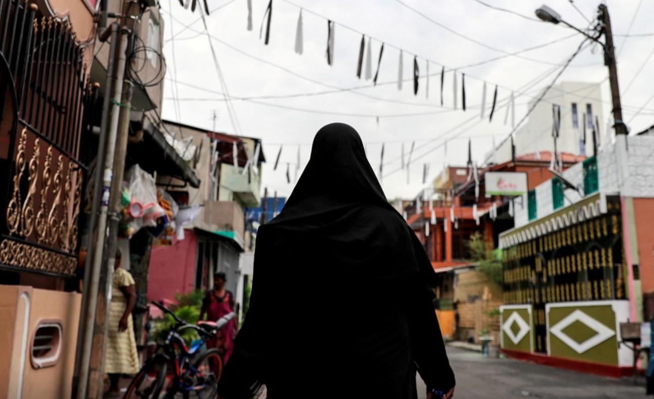
<instances>
[{"instance_id":1,"label":"grey paved road to the right of the veiled woman","mask_svg":"<svg viewBox=\"0 0 654 399\"><path fill-rule=\"evenodd\" d=\"M645 398L645 387L631 379L615 380L540 364L447 347L456 374L455 399L473 398ZM424 384L418 378L419 398Z\"/></svg>"}]
</instances>

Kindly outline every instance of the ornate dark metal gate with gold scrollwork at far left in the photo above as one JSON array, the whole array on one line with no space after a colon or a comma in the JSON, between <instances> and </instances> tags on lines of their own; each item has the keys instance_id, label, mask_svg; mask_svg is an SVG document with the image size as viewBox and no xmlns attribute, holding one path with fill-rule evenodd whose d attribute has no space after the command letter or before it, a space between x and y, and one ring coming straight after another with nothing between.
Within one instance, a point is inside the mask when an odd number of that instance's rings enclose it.
<instances>
[{"instance_id":1,"label":"ornate dark metal gate with gold scrollwork at far left","mask_svg":"<svg viewBox=\"0 0 654 399\"><path fill-rule=\"evenodd\" d=\"M0 265L71 276L88 68L68 22L36 14L34 5L0 0Z\"/></svg>"}]
</instances>

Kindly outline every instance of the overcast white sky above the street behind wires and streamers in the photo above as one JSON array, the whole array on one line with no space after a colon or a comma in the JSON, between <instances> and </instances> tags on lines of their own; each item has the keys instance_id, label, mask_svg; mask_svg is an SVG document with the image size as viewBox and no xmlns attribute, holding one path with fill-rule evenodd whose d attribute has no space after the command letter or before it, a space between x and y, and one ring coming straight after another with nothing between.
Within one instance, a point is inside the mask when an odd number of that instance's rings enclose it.
<instances>
[{"instance_id":1,"label":"overcast white sky above the street behind wires and streamers","mask_svg":"<svg viewBox=\"0 0 654 399\"><path fill-rule=\"evenodd\" d=\"M161 1L167 62L163 118L211 129L215 111L216 130L262 138L268 160L263 185L279 196L292 191L298 146L301 170L309 159L313 135L330 122L345 122L358 130L377 173L385 143L382 183L388 198L415 196L423 186L424 164L430 165L428 181L443 164L464 165L470 137L473 158L483 162L492 136L499 142L511 131L510 123L504 124L504 109L492 123L479 118L483 82L489 87L489 102L495 84L500 87L500 101L506 101L511 90L524 93L515 99L516 120L520 120L527 111L526 103L551 83L560 65L583 40L571 29L536 21L534 9L543 0L483 0L521 16L491 9L477 0L273 0L266 46L259 39L259 30L268 0L251 0L252 31L247 30L247 0L208 1L215 10L206 21L222 84L198 10L185 10L177 0ZM585 18L593 20L599 4L597 0L576 0L576 10L568 0L545 1L577 27L589 26ZM605 3L613 32L619 35L615 46L623 114L630 130L640 131L654 124L654 101L647 103L654 95L654 35L643 35L654 32L647 23L647 16L654 15L654 2ZM300 7L303 54L298 55L294 45ZM325 56L328 19L336 23L331 66ZM356 78L362 33L366 46L372 37L373 75L381 43L386 43L377 86ZM630 37L625 37L627 33ZM532 47L536 48L522 52ZM397 84L399 48L406 79L402 90ZM604 81L603 114L608 116L610 95L601 50L597 46L583 49L558 81ZM516 52L519 54L510 55ZM411 82L414 56L421 75L417 95ZM428 81L428 96L427 60L429 73L434 75ZM443 66L445 106L441 107L438 74ZM460 73L466 74L465 112L460 105L453 109L453 69L458 75L459 103ZM233 113L224 100L226 92L232 98ZM600 126L606 126L604 122ZM400 155L403 143L408 153L412 142L415 163L407 173L400 170ZM280 145L280 165L273 171ZM286 182L287 165L290 184Z\"/></svg>"}]
</instances>

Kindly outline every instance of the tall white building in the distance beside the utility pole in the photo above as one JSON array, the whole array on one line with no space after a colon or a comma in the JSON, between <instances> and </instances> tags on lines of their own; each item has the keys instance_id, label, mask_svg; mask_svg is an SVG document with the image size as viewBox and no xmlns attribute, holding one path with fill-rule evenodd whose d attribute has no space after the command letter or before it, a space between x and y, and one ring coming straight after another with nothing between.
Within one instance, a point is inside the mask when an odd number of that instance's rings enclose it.
<instances>
[{"instance_id":1,"label":"tall white building in the distance beside the utility pole","mask_svg":"<svg viewBox=\"0 0 654 399\"><path fill-rule=\"evenodd\" d=\"M544 89L543 89L544 90ZM531 108L536 99L534 94L529 101ZM536 105L525 124L519 128L514 137L515 154L554 150L552 137L552 104L560 107L560 133L557 150L575 155L593 155L593 124L598 121L598 139L600 147L608 141L606 123L602 114L602 92L599 83L561 82L549 89L543 101ZM584 115L586 115L586 134L584 142ZM490 156L490 153L487 154ZM494 163L500 164L511 159L511 142L507 141L494 154Z\"/></svg>"}]
</instances>

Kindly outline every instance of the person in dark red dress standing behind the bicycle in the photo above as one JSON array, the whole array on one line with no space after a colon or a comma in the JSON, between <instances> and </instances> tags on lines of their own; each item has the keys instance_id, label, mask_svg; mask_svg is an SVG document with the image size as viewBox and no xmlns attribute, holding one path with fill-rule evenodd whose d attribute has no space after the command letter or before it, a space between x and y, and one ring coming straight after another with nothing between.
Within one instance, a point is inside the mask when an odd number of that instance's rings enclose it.
<instances>
[{"instance_id":1,"label":"person in dark red dress standing behind the bicycle","mask_svg":"<svg viewBox=\"0 0 654 399\"><path fill-rule=\"evenodd\" d=\"M218 321L224 315L234 311L234 294L232 291L225 289L227 277L222 271L218 271L213 277L213 289L207 291L202 301L199 320ZM234 320L230 320L220 328L218 334L207 342L210 348L218 348L224 362L229 360L233 350L233 340L235 334Z\"/></svg>"}]
</instances>

